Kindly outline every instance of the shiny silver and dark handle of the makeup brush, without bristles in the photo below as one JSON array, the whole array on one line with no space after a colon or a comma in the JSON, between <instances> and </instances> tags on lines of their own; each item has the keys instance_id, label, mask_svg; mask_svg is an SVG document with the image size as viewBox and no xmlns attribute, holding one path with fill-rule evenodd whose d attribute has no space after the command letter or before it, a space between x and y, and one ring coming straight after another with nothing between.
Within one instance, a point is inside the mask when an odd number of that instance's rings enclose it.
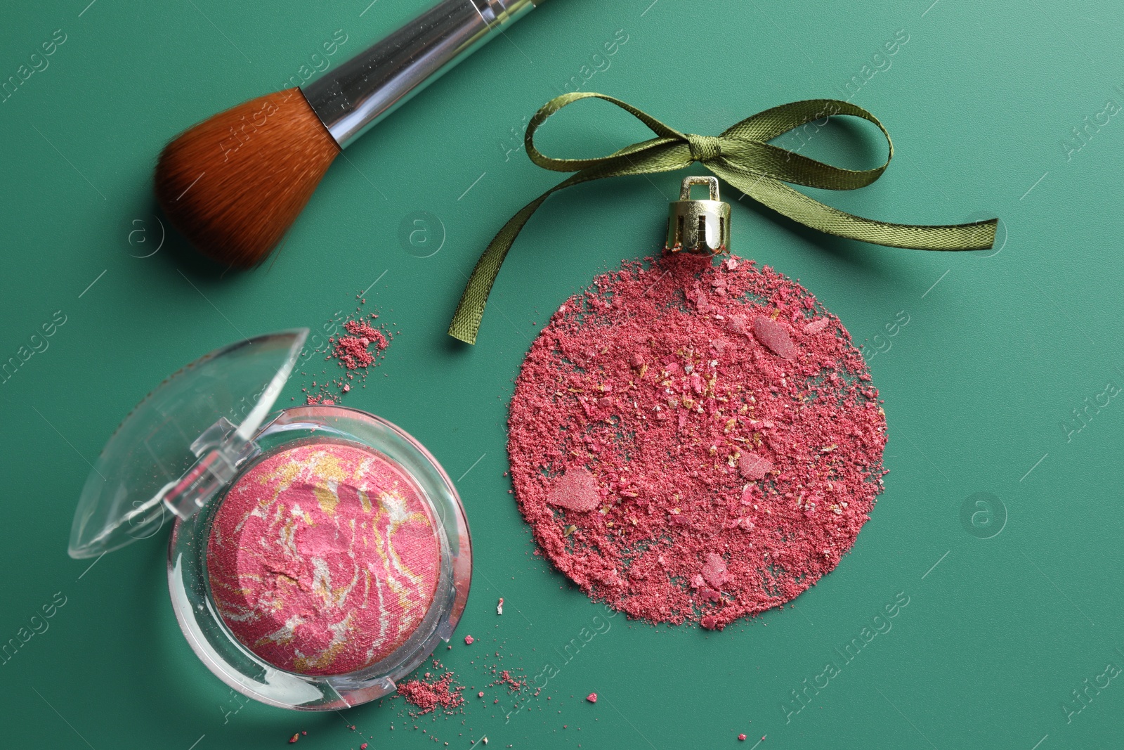
<instances>
[{"instance_id":1,"label":"shiny silver and dark handle of the makeup brush, without bristles","mask_svg":"<svg viewBox=\"0 0 1124 750\"><path fill-rule=\"evenodd\" d=\"M339 147L544 0L444 0L301 88Z\"/></svg>"}]
</instances>

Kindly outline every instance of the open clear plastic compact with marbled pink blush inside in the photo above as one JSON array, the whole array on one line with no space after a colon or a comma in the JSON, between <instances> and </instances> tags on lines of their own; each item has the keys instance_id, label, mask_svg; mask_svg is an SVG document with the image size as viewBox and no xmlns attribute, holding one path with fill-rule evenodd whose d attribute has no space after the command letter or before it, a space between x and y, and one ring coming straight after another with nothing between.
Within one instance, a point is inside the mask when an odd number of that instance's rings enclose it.
<instances>
[{"instance_id":1,"label":"open clear plastic compact with marbled pink blush inside","mask_svg":"<svg viewBox=\"0 0 1124 750\"><path fill-rule=\"evenodd\" d=\"M215 675L282 708L396 689L447 641L472 552L456 489L401 428L342 406L272 412L307 329L183 368L114 433L70 554L96 558L174 518L172 608Z\"/></svg>"}]
</instances>

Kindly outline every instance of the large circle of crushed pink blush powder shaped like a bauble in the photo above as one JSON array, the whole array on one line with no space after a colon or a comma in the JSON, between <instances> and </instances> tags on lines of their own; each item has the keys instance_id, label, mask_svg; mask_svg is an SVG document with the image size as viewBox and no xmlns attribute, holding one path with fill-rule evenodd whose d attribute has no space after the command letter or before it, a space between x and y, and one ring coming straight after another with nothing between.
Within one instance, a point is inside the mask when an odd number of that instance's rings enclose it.
<instances>
[{"instance_id":1,"label":"large circle of crushed pink blush powder shaped like a bauble","mask_svg":"<svg viewBox=\"0 0 1124 750\"><path fill-rule=\"evenodd\" d=\"M753 261L625 262L570 298L511 399L516 499L631 617L722 629L831 571L881 490L886 418L840 320Z\"/></svg>"}]
</instances>

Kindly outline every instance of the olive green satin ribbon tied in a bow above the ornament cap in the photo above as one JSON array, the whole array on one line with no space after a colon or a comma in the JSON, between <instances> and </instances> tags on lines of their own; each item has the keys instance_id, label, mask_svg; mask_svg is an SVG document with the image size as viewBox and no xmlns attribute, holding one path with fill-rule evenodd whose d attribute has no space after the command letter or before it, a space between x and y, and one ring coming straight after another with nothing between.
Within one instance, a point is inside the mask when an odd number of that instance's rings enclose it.
<instances>
[{"instance_id":1,"label":"olive green satin ribbon tied in a bow above the ornament cap","mask_svg":"<svg viewBox=\"0 0 1124 750\"><path fill-rule=\"evenodd\" d=\"M589 98L610 101L631 112L658 137L626 146L600 159L551 159L535 148L535 130L538 126L566 105ZM877 125L889 145L886 163L872 170L846 170L767 143L794 128L832 115L861 117ZM448 326L448 335L469 344L477 341L488 293L523 225L552 193L590 180L670 172L699 162L750 198L795 222L827 234L876 245L916 250L985 250L995 242L998 219L945 226L874 222L821 204L785 184L792 182L827 190L854 190L870 184L886 171L894 156L890 134L865 109L837 99L808 99L773 107L745 118L715 137L680 133L613 97L589 92L564 93L535 112L527 126L525 144L527 155L535 164L555 172L577 174L524 206L504 225L480 256Z\"/></svg>"}]
</instances>

